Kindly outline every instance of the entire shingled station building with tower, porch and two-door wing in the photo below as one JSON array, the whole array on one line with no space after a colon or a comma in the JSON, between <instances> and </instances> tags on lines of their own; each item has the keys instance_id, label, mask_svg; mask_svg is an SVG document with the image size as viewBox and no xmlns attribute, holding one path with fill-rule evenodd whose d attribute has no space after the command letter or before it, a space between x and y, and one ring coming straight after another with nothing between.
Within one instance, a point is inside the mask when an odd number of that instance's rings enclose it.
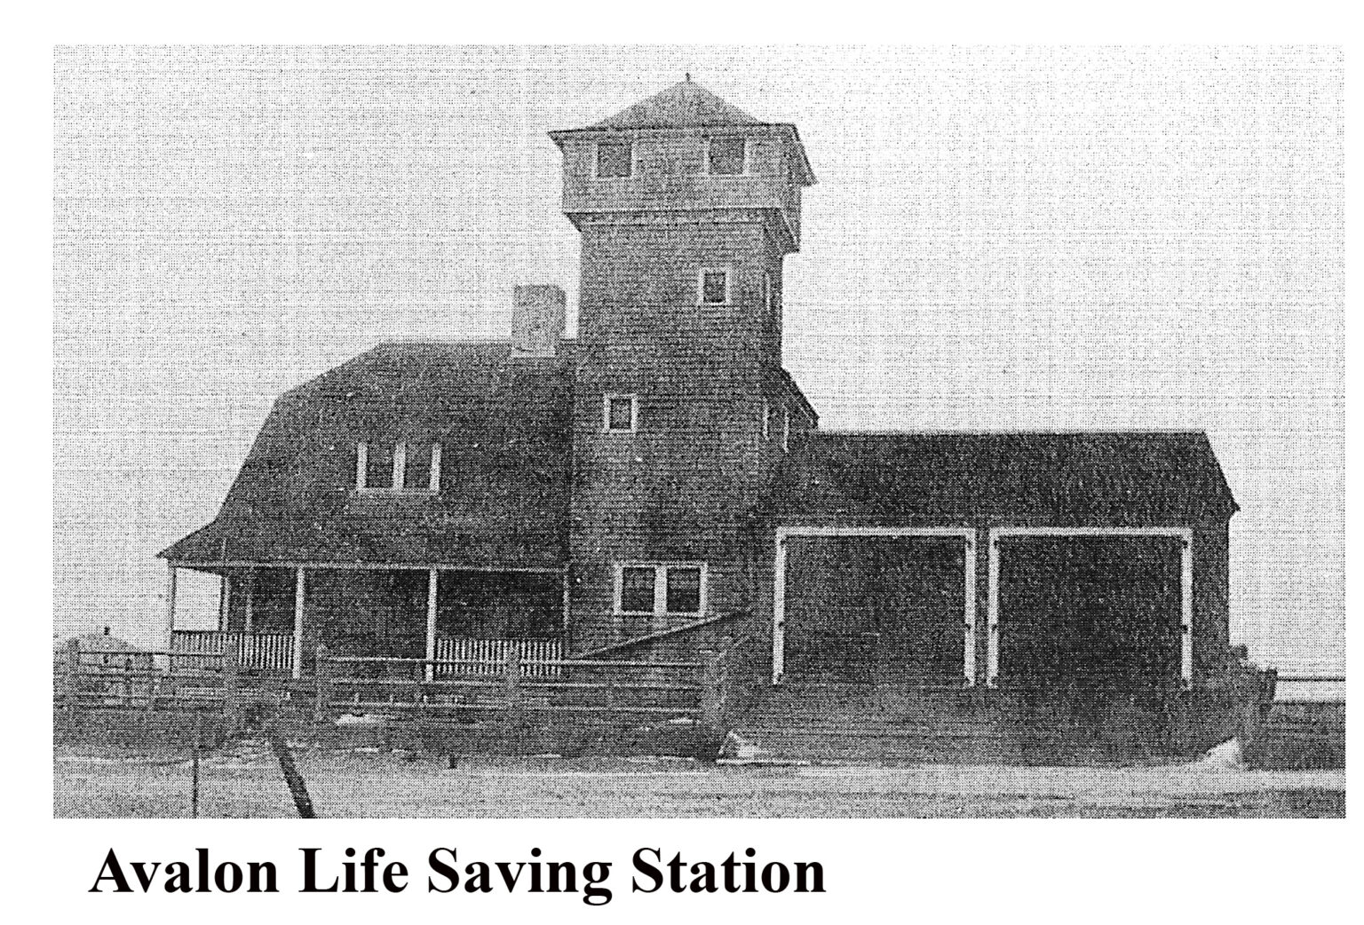
<instances>
[{"instance_id":1,"label":"entire shingled station building with tower, porch and two-door wing","mask_svg":"<svg viewBox=\"0 0 1364 925\"><path fill-rule=\"evenodd\" d=\"M1236 503L1203 434L821 431L782 359L816 181L795 126L687 80L550 136L577 338L561 289L517 287L507 341L382 344L282 396L218 516L162 553L222 576L221 630L273 636L295 675L318 643L723 634L788 688L1213 678Z\"/></svg>"}]
</instances>

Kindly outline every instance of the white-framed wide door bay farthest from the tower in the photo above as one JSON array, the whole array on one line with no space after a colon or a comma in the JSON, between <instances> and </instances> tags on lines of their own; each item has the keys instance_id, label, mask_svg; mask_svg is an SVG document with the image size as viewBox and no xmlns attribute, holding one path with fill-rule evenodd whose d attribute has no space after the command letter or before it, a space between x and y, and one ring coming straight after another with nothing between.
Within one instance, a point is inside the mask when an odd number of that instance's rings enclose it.
<instances>
[{"instance_id":1,"label":"white-framed wide door bay farthest from the tower","mask_svg":"<svg viewBox=\"0 0 1364 925\"><path fill-rule=\"evenodd\" d=\"M992 682L1150 700L1188 679L1187 538L1012 535L990 554Z\"/></svg>"}]
</instances>

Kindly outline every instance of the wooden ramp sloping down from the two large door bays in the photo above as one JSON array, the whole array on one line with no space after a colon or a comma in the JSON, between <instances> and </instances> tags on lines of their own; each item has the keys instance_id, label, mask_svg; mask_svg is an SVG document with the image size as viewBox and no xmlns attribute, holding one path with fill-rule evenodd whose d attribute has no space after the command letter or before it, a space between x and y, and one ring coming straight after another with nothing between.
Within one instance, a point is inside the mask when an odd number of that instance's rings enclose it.
<instances>
[{"instance_id":1,"label":"wooden ramp sloping down from the two large door bays","mask_svg":"<svg viewBox=\"0 0 1364 925\"><path fill-rule=\"evenodd\" d=\"M787 684L762 692L732 729L771 759L816 764L1108 764L1170 753L1150 723L1105 723L964 688Z\"/></svg>"}]
</instances>

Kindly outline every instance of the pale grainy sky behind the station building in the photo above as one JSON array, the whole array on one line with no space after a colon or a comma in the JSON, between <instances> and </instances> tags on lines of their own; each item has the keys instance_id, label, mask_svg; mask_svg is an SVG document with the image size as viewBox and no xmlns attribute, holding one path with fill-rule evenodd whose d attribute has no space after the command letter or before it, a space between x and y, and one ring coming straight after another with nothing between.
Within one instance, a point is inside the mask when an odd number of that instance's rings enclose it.
<instances>
[{"instance_id":1,"label":"pale grainy sky behind the station building","mask_svg":"<svg viewBox=\"0 0 1364 925\"><path fill-rule=\"evenodd\" d=\"M820 180L783 303L824 428L1206 430L1233 641L1344 670L1344 63L1312 48L59 49L53 632L160 641L155 553L286 389L502 337L516 284L572 329L546 132L685 72Z\"/></svg>"}]
</instances>

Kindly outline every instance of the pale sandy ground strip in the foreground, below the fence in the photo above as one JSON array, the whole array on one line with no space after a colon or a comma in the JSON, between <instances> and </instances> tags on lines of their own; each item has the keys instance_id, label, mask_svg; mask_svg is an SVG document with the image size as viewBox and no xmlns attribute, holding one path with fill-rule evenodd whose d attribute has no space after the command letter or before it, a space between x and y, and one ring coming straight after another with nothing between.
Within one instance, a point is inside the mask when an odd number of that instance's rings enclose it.
<instances>
[{"instance_id":1,"label":"pale sandy ground strip in the foreground, below the fence","mask_svg":"<svg viewBox=\"0 0 1364 925\"><path fill-rule=\"evenodd\" d=\"M1207 764L1093 767L716 767L687 760L297 753L330 817L1344 816L1345 772ZM60 746L57 817L184 817L184 753ZM263 742L206 753L199 814L293 816Z\"/></svg>"}]
</instances>

